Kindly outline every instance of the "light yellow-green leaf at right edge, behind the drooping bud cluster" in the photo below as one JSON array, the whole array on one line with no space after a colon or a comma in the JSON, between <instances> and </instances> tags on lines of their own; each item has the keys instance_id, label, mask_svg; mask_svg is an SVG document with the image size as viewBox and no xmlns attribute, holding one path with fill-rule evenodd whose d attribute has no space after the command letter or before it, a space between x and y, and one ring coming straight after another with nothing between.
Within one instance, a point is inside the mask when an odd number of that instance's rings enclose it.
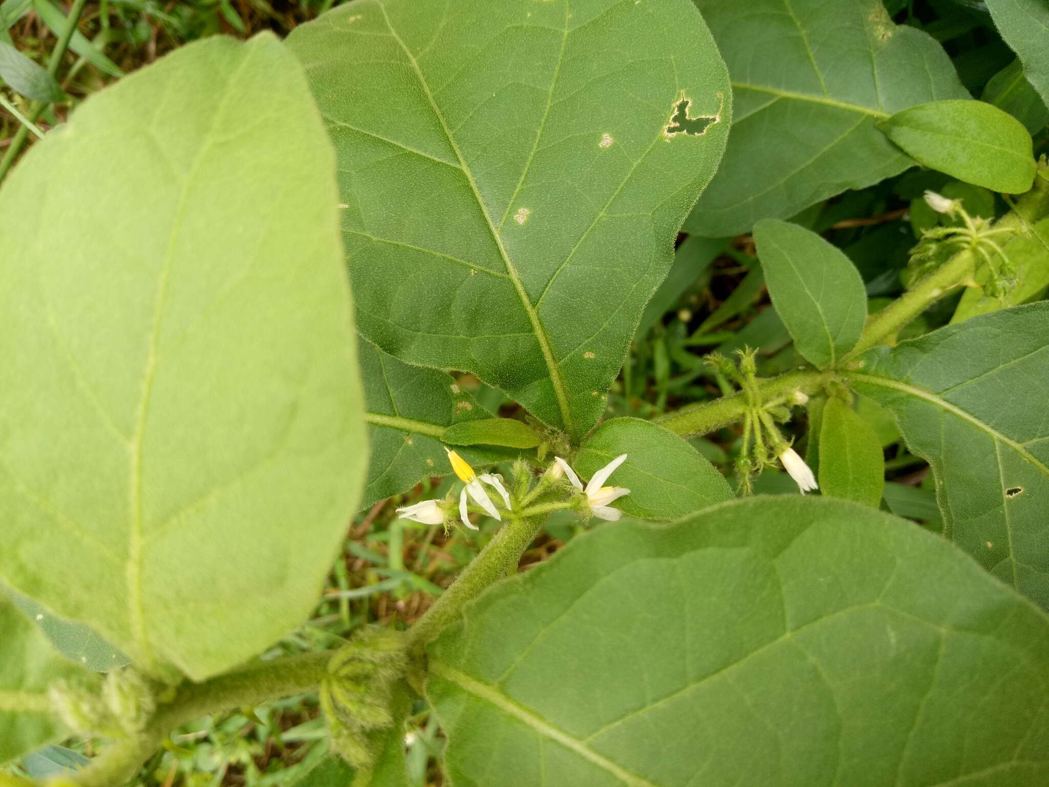
<instances>
[{"instance_id":1,"label":"light yellow-green leaf at right edge, behind the drooping bud cluster","mask_svg":"<svg viewBox=\"0 0 1049 787\"><path fill-rule=\"evenodd\" d=\"M987 283L991 272L983 265L975 276L976 283L981 286L965 290L950 318L952 323L1037 300L1045 295L1049 289L1049 218L1030 227L1029 234L1010 238L1003 251L1015 271L1015 285L1001 298L985 295L982 285Z\"/></svg>"}]
</instances>

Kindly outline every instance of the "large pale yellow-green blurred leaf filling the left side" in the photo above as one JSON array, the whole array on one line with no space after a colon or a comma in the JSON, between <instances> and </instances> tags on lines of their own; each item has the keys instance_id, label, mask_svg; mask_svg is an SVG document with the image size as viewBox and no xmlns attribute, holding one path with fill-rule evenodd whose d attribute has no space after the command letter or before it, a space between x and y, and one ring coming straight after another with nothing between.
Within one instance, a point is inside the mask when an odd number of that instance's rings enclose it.
<instances>
[{"instance_id":1,"label":"large pale yellow-green blurred leaf filling the left side","mask_svg":"<svg viewBox=\"0 0 1049 787\"><path fill-rule=\"evenodd\" d=\"M283 45L211 38L0 190L0 576L155 677L298 625L356 510L334 167Z\"/></svg>"}]
</instances>

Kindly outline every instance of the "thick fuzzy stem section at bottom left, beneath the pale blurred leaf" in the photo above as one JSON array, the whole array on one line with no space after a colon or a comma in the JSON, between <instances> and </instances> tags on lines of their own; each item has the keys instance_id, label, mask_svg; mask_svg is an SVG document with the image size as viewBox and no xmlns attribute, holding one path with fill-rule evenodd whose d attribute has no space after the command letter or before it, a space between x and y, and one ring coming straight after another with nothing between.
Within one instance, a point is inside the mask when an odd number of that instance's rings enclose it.
<instances>
[{"instance_id":1,"label":"thick fuzzy stem section at bottom left, beneath the pale blurred leaf","mask_svg":"<svg viewBox=\"0 0 1049 787\"><path fill-rule=\"evenodd\" d=\"M80 787L125 784L172 729L219 710L313 692L327 674L330 658L330 653L290 656L252 664L204 683L186 683L178 687L174 699L158 704L142 732L114 742L86 768L63 778Z\"/></svg>"}]
</instances>

